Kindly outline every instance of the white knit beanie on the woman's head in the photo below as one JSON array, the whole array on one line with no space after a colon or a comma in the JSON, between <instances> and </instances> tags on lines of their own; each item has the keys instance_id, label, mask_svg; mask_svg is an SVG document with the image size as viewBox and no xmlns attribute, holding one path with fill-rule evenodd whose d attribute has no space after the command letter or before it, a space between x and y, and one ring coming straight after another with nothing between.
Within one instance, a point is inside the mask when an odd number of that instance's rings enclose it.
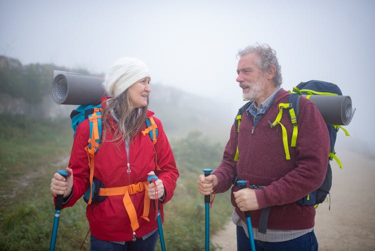
<instances>
[{"instance_id":1,"label":"white knit beanie on the woman's head","mask_svg":"<svg viewBox=\"0 0 375 251\"><path fill-rule=\"evenodd\" d=\"M136 58L120 58L106 74L103 86L109 96L116 98L145 77L151 78L148 67L142 61Z\"/></svg>"}]
</instances>

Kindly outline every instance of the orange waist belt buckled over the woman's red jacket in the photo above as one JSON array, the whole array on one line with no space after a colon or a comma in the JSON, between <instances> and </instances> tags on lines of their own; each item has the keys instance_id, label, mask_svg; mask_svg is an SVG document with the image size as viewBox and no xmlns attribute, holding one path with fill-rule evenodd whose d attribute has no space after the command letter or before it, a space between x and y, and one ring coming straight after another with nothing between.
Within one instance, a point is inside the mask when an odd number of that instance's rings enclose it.
<instances>
[{"instance_id":1,"label":"orange waist belt buckled over the woman's red jacket","mask_svg":"<svg viewBox=\"0 0 375 251\"><path fill-rule=\"evenodd\" d=\"M143 200L143 214L141 218L149 221L148 219L148 213L149 213L149 204L150 204L150 198L148 197L147 192L147 184L149 184L148 181L144 182L138 182L135 184L131 184L128 186L118 186L118 187L109 187L109 188L100 188L99 189L99 196L111 196L111 195L122 195L122 203L125 207L125 210L127 212L127 215L129 215L130 218L130 225L131 229L135 231L139 227L138 223L138 217L136 215L136 211L134 208L133 203L130 199L130 194L134 194L137 192L144 192L144 200Z\"/></svg>"}]
</instances>

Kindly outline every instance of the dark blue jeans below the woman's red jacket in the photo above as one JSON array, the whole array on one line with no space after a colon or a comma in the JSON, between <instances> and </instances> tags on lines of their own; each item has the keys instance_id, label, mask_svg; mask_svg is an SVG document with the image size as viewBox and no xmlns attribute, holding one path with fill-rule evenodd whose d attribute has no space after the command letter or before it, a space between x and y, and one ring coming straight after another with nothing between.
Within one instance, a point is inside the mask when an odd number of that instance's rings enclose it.
<instances>
[{"instance_id":1,"label":"dark blue jeans below the woman's red jacket","mask_svg":"<svg viewBox=\"0 0 375 251\"><path fill-rule=\"evenodd\" d=\"M136 238L135 241L126 241L118 244L107 240L100 240L91 235L91 251L149 251L154 250L159 232L155 231L146 239Z\"/></svg>"}]
</instances>

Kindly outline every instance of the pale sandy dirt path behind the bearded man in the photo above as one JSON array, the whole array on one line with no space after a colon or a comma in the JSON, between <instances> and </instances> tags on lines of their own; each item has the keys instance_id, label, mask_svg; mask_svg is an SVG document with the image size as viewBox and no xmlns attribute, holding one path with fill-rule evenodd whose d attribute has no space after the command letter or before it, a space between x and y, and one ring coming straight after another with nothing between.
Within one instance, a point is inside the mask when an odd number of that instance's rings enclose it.
<instances>
[{"instance_id":1,"label":"pale sandy dirt path behind the bearded man","mask_svg":"<svg viewBox=\"0 0 375 251\"><path fill-rule=\"evenodd\" d=\"M330 210L329 203L316 209L319 251L375 250L375 159L336 150L344 168L332 163ZM211 240L221 250L236 250L234 224L228 222Z\"/></svg>"}]
</instances>

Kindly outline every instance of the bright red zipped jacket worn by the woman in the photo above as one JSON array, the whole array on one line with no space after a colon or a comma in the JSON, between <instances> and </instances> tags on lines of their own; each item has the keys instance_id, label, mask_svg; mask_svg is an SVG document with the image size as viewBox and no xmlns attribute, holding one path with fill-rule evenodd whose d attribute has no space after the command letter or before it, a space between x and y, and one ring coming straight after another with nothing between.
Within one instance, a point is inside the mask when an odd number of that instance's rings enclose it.
<instances>
[{"instance_id":1,"label":"bright red zipped jacket worn by the woman","mask_svg":"<svg viewBox=\"0 0 375 251\"><path fill-rule=\"evenodd\" d=\"M103 105L103 103L102 103ZM147 117L154 113L147 111ZM160 202L161 219L163 220L162 204L171 199L178 170L174 161L172 150L163 131L161 122L153 117L158 130L157 142L155 144L157 164L161 171L156 175L163 181L165 198ZM113 121L112 121L113 122ZM145 124L142 130L145 129ZM113 130L106 132L106 140L111 140ZM89 123L84 120L77 128L69 167L73 169L73 194L64 207L72 206L89 186L89 167L84 147L89 138ZM153 144L146 134L139 133L135 140L129 145L129 159L125 150L125 143L116 145L113 142L104 142L97 150L94 160L94 177L103 182L105 187L119 187L143 182L147 179L147 173L155 170L155 153ZM131 172L126 173L127 163L130 164ZM98 204L91 203L86 207L91 234L101 240L129 241L132 239L130 219L122 202L123 195L107 196L104 201ZM139 228L135 230L137 237L143 236L157 228L155 209L150 203L147 222L141 218L143 212L144 191L130 195L131 201L137 212Z\"/></svg>"}]
</instances>

